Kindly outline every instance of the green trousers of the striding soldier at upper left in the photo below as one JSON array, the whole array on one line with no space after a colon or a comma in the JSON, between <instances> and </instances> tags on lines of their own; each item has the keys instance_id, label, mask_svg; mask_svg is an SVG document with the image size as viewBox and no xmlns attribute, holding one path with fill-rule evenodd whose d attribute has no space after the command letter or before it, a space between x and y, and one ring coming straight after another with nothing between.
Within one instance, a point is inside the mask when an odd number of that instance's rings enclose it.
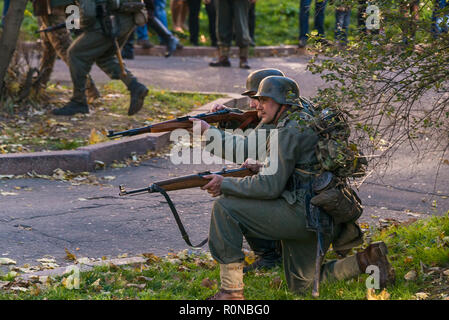
<instances>
[{"instance_id":1,"label":"green trousers of the striding soldier at upper left","mask_svg":"<svg viewBox=\"0 0 449 320\"><path fill-rule=\"evenodd\" d=\"M117 40L121 48L134 31L135 24L131 15L119 15L118 17L120 32ZM86 75L89 74L94 63L111 79L122 80L127 87L133 80L136 80L127 69L125 69L126 76L122 75L114 43L111 38L103 34L101 29L96 28L83 32L70 46L68 56L70 76L73 82L72 101L86 102L84 93Z\"/></svg>"}]
</instances>

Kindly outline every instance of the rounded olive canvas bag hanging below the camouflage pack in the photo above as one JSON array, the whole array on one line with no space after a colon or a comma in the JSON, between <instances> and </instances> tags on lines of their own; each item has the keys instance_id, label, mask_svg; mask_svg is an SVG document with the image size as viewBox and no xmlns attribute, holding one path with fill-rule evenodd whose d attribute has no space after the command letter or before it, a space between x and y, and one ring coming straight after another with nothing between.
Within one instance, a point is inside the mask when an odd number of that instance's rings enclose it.
<instances>
[{"instance_id":1,"label":"rounded olive canvas bag hanging below the camouflage pack","mask_svg":"<svg viewBox=\"0 0 449 320\"><path fill-rule=\"evenodd\" d=\"M313 184L316 193L310 202L332 216L335 224L354 222L363 213L357 193L331 172L323 172Z\"/></svg>"}]
</instances>

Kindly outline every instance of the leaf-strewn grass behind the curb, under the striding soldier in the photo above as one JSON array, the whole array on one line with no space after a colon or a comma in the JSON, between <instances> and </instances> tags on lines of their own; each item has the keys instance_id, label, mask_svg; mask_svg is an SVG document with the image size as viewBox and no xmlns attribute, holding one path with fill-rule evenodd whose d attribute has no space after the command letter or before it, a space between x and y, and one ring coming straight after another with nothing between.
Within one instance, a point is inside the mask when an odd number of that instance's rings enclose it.
<instances>
[{"instance_id":1,"label":"leaf-strewn grass behind the curb, under the striding soldier","mask_svg":"<svg viewBox=\"0 0 449 320\"><path fill-rule=\"evenodd\" d=\"M42 102L35 107L39 114L28 116L28 104L15 113L0 113L0 153L73 150L89 144L92 128L122 131L142 127L184 116L198 106L223 97L149 87L144 107L129 117L129 91L121 81L110 81L99 89L103 100L94 102L91 110L95 112L89 116L58 118L46 110L62 107L70 98L68 87L56 85L46 90L50 103Z\"/></svg>"}]
</instances>

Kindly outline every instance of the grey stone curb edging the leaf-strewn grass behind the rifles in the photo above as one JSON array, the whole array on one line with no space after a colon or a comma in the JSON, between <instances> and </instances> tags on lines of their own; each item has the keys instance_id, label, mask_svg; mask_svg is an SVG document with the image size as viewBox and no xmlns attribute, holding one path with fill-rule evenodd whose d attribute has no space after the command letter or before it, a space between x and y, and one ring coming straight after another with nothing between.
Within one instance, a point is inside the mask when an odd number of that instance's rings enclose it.
<instances>
[{"instance_id":1,"label":"grey stone curb edging the leaf-strewn grass behind the rifles","mask_svg":"<svg viewBox=\"0 0 449 320\"><path fill-rule=\"evenodd\" d=\"M195 108L188 115L208 112L214 104L225 104L231 108L243 108L248 104L247 97L232 93L227 96ZM145 154L149 150L161 150L169 143L170 132L147 133L75 150L5 154L0 155L0 174L21 175L34 171L51 175L58 168L72 172L94 171L96 161L109 165L114 160L128 158L132 153Z\"/></svg>"}]
</instances>

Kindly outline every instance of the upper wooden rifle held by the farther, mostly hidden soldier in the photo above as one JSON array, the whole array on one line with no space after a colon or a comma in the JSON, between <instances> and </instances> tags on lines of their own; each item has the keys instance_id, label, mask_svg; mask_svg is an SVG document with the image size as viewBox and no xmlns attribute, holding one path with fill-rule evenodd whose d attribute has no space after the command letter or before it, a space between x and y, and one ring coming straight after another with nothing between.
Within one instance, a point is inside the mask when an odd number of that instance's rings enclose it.
<instances>
[{"instance_id":1,"label":"upper wooden rifle held by the farther, mostly hidden soldier","mask_svg":"<svg viewBox=\"0 0 449 320\"><path fill-rule=\"evenodd\" d=\"M240 129L246 128L250 123L259 123L259 118L257 117L257 111L251 110L243 113L232 112L229 109L219 110L217 112L201 113L195 116L185 116L176 118L173 120L167 120L159 123L155 123L146 127L130 129L121 132L114 132L109 130L108 137L117 136L134 136L143 133L154 133L154 132L167 132L173 131L175 129L190 129L193 124L189 118L196 118L206 121L207 123L216 123L222 121L237 121L240 122Z\"/></svg>"}]
</instances>

